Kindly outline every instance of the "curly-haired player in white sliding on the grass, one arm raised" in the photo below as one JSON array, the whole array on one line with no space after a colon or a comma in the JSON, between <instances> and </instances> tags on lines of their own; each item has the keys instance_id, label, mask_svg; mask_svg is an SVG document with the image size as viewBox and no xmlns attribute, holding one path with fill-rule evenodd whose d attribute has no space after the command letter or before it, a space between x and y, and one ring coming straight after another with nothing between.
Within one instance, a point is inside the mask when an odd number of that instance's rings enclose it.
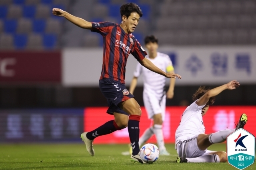
<instances>
[{"instance_id":1,"label":"curly-haired player in white sliding on the grass, one arm raised","mask_svg":"<svg viewBox=\"0 0 256 170\"><path fill-rule=\"evenodd\" d=\"M226 162L227 154L224 151L211 151L207 148L214 143L226 140L229 134L239 128L244 128L247 116L242 114L235 129L220 130L212 134L205 134L202 116L206 114L209 105L214 103L214 97L225 89L236 89L240 84L230 81L214 89L200 87L193 95L194 103L184 111L180 125L175 133L175 148L178 156L176 162Z\"/></svg>"}]
</instances>

